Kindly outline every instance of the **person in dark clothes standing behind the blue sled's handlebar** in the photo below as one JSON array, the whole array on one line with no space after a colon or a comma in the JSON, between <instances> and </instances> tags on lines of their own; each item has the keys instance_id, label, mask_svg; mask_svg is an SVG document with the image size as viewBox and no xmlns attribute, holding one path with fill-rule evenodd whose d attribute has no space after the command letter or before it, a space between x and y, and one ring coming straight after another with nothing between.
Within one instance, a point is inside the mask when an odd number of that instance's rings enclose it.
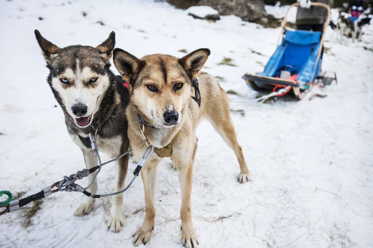
<instances>
[{"instance_id":1,"label":"person in dark clothes standing behind the blue sled's handlebar","mask_svg":"<svg viewBox=\"0 0 373 248\"><path fill-rule=\"evenodd\" d=\"M333 0L298 0L300 6L297 9L295 24L297 29L323 32L324 23L327 18L327 9L320 6L311 6L311 2L325 3L333 6ZM324 54L324 46L321 50L321 63ZM319 74L321 74L321 66Z\"/></svg>"}]
</instances>

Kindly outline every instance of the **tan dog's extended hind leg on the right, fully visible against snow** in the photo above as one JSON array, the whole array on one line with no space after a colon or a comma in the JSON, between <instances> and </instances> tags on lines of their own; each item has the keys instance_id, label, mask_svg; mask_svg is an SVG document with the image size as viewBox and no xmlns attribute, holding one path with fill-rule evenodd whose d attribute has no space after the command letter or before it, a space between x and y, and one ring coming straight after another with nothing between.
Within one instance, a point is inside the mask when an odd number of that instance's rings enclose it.
<instances>
[{"instance_id":1,"label":"tan dog's extended hind leg on the right, fully visible against snow","mask_svg":"<svg viewBox=\"0 0 373 248\"><path fill-rule=\"evenodd\" d=\"M238 175L238 181L240 183L247 183L250 181L250 173L245 162L244 154L242 153L242 148L237 142L236 133L231 119L228 97L225 92L224 94L220 97L222 103L216 104L216 107L208 118L215 130L220 134L220 136L222 136L226 144L236 154L239 168L241 170Z\"/></svg>"}]
</instances>

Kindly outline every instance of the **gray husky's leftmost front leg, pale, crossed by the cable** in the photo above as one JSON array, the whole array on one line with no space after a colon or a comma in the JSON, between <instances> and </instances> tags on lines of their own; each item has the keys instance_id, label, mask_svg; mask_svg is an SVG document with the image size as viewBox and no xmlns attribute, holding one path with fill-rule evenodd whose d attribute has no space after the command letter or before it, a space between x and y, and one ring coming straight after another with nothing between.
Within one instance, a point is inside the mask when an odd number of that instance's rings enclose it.
<instances>
[{"instance_id":1,"label":"gray husky's leftmost front leg, pale, crossed by the cable","mask_svg":"<svg viewBox=\"0 0 373 248\"><path fill-rule=\"evenodd\" d=\"M97 158L94 156L93 151L91 151L91 150L90 151L85 151L83 149L82 149L82 151L83 151L83 155L84 155L85 166L87 167L87 169L95 167L97 165ZM93 177L94 177L94 173L88 175L88 177L87 177L88 184L91 183L91 181L93 180ZM92 184L89 191L92 194L96 193L96 191L97 191L97 181L95 181ZM92 197L88 197L88 196L83 196L83 197L84 197L84 201L79 205L78 209L76 209L76 211L75 211L76 216L87 215L88 213L90 213L92 211L94 199Z\"/></svg>"}]
</instances>

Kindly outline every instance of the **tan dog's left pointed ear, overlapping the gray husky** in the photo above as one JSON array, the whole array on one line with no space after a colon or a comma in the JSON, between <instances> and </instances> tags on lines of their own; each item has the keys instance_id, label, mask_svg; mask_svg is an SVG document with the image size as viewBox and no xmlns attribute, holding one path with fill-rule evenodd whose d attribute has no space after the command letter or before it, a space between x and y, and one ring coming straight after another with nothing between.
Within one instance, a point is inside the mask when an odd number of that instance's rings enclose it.
<instances>
[{"instance_id":1,"label":"tan dog's left pointed ear, overlapping the gray husky","mask_svg":"<svg viewBox=\"0 0 373 248\"><path fill-rule=\"evenodd\" d=\"M136 58L134 55L120 48L114 49L113 61L122 78L129 84L133 83L132 79L137 76L141 68L145 65L145 61Z\"/></svg>"}]
</instances>

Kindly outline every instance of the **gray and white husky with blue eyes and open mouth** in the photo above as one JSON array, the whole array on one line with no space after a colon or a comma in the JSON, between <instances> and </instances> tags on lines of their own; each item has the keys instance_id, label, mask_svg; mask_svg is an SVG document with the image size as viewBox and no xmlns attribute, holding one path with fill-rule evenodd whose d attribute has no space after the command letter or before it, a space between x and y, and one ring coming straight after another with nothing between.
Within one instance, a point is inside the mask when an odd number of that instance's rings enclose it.
<instances>
[{"instance_id":1,"label":"gray and white husky with blue eyes and open mouth","mask_svg":"<svg viewBox=\"0 0 373 248\"><path fill-rule=\"evenodd\" d=\"M87 168L97 165L91 149L88 133L97 131L100 151L117 157L128 150L127 120L125 109L129 102L128 89L121 78L110 71L109 59L115 45L115 33L97 47L66 46L59 48L35 30L36 39L43 51L50 70L47 81L57 102L62 107L65 123L71 139L83 152ZM124 188L128 155L116 161L115 191ZM88 176L88 182L94 173ZM97 182L90 188L95 194ZM75 215L91 212L94 199L84 196ZM124 225L122 216L123 194L113 196L111 218L108 227L118 232Z\"/></svg>"}]
</instances>

